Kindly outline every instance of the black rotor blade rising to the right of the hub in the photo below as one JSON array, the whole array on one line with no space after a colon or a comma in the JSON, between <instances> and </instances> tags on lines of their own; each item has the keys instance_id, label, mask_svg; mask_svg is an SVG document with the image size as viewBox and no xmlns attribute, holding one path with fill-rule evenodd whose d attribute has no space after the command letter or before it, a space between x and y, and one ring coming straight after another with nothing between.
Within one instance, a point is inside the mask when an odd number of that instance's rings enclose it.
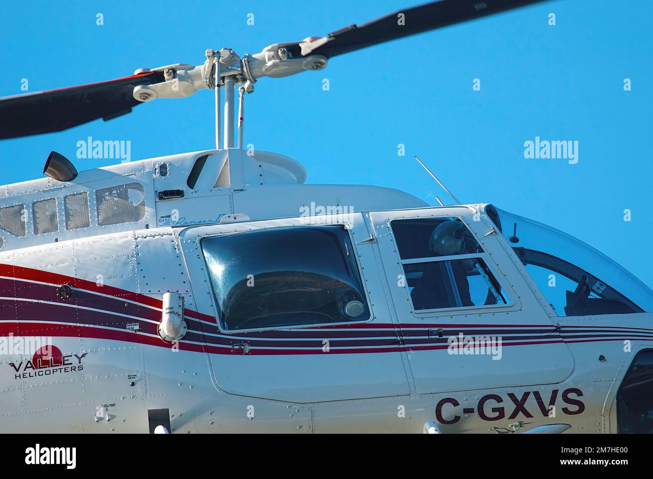
<instances>
[{"instance_id":1,"label":"black rotor blade rising to the right of the hub","mask_svg":"<svg viewBox=\"0 0 653 479\"><path fill-rule=\"evenodd\" d=\"M447 25L524 7L545 0L439 0L405 8L363 25L349 25L302 46L302 56L331 58L366 46L396 40Z\"/></svg>"}]
</instances>

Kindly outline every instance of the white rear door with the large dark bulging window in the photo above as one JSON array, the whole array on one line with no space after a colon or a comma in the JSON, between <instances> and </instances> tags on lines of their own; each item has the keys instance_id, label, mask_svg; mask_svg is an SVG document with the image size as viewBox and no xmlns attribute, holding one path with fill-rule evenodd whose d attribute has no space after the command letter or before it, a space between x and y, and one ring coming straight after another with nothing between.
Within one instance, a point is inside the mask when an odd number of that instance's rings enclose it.
<instances>
[{"instance_id":1,"label":"white rear door with the large dark bulging window","mask_svg":"<svg viewBox=\"0 0 653 479\"><path fill-rule=\"evenodd\" d=\"M201 323L217 387L295 403L407 395L370 237L361 214L180 233L197 307L217 318Z\"/></svg>"}]
</instances>

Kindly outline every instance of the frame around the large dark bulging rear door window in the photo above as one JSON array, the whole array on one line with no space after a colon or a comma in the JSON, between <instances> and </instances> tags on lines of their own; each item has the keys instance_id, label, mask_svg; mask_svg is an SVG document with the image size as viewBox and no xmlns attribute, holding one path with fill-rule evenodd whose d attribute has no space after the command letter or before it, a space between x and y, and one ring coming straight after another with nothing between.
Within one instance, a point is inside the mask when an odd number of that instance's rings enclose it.
<instances>
[{"instance_id":1,"label":"frame around the large dark bulging rear door window","mask_svg":"<svg viewBox=\"0 0 653 479\"><path fill-rule=\"evenodd\" d=\"M360 260L358 258L359 254L356 248L356 242L353 238L352 231L351 231L352 229L351 223L336 222L336 223L306 224L306 223L299 222L296 224L289 224L289 225L261 226L261 227L256 227L257 225L255 225L254 223L252 223L252 225L255 227L250 227L249 229L243 231L219 231L216 233L199 235L197 237L197 247L199 248L200 251L199 258L200 261L202 261L202 267L204 268L204 271L206 271L206 278L207 278L206 283L208 284L208 288L210 288L210 295L212 298L212 303L215 311L215 323L217 324L217 328L219 329L220 333L225 335L241 335L243 333L250 333L256 331L281 331L285 329L316 328L316 327L323 327L323 326L364 324L364 323L370 323L374 321L374 308L372 307L372 301L370 301L370 295L366 288L365 278L363 276L362 267L360 265ZM283 326L270 326L270 327L254 327L249 329L231 329L231 330L225 329L223 327L222 320L220 317L219 301L217 301L217 295L215 295L215 288L213 286L213 280L211 278L210 269L208 267L208 263L206 262L206 256L204 255L204 248L202 248L202 240L208 238L221 237L222 235L238 235L239 233L247 233L249 231L270 231L273 229L302 228L302 227L315 227L315 226L342 226L342 229L347 232L347 237L349 238L349 242L351 243L351 249L354 256L355 267L357 268L358 276L360 278L360 283L363 290L362 293L364 294L366 306L370 312L369 318L367 318L366 320L343 321L338 323L333 323L333 322L318 323L318 324L311 323L311 324L296 324L296 325L283 325Z\"/></svg>"}]
</instances>

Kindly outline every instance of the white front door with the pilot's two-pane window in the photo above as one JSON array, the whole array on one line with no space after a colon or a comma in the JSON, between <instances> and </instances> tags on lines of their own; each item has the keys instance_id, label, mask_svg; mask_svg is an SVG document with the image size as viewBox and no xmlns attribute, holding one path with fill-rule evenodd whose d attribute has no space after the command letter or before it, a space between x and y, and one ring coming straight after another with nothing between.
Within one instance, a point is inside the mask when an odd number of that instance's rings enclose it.
<instances>
[{"instance_id":1,"label":"white front door with the pilot's two-pane window","mask_svg":"<svg viewBox=\"0 0 653 479\"><path fill-rule=\"evenodd\" d=\"M556 325L484 212L370 218L418 393L554 384L571 374Z\"/></svg>"}]
</instances>

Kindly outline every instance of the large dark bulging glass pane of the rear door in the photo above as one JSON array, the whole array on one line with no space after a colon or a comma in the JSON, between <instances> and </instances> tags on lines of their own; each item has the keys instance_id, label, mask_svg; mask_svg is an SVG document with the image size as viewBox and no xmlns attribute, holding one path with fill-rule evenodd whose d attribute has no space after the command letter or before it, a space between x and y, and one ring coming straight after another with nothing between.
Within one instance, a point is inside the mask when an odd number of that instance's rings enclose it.
<instances>
[{"instance_id":1,"label":"large dark bulging glass pane of the rear door","mask_svg":"<svg viewBox=\"0 0 653 479\"><path fill-rule=\"evenodd\" d=\"M226 331L370 319L342 225L229 233L201 248Z\"/></svg>"}]
</instances>

